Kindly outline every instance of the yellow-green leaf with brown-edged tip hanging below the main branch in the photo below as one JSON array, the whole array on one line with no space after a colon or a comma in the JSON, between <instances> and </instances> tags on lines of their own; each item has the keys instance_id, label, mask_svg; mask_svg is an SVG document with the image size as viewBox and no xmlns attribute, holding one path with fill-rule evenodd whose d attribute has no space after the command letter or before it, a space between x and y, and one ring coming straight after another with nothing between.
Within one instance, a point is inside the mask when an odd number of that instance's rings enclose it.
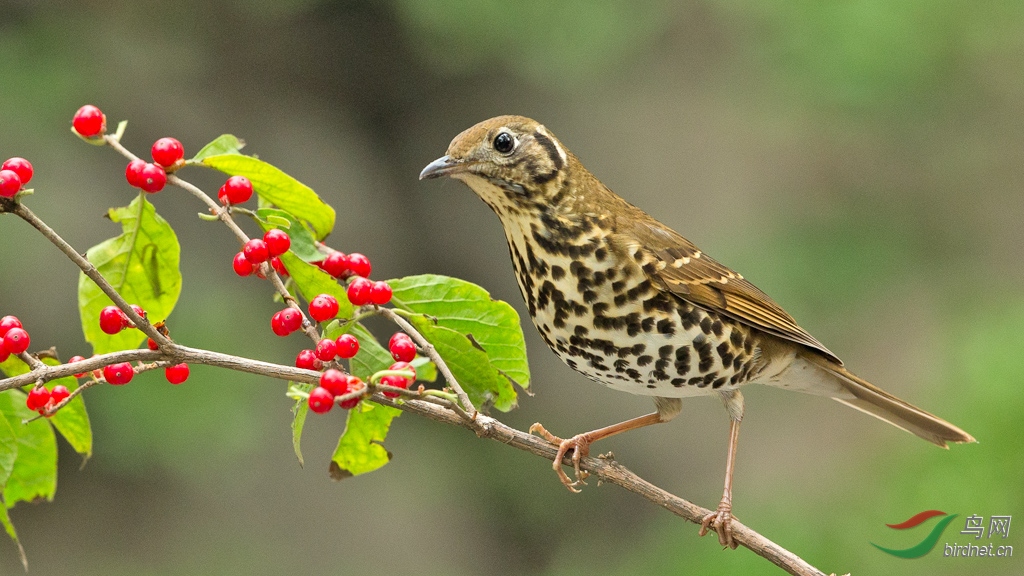
<instances>
[{"instance_id":1,"label":"yellow-green leaf with brown-edged tip hanging below the main branch","mask_svg":"<svg viewBox=\"0 0 1024 576\"><path fill-rule=\"evenodd\" d=\"M360 402L348 411L345 433L331 459L331 478L343 480L374 471L391 460L391 453L381 445L391 427L391 420L401 414L397 408Z\"/></svg>"}]
</instances>

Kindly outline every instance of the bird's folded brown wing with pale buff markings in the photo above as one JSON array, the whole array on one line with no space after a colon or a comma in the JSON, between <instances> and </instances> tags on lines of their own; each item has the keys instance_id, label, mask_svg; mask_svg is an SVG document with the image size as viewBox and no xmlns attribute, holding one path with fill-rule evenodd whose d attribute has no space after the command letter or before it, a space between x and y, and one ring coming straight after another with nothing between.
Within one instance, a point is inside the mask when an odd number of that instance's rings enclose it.
<instances>
[{"instance_id":1,"label":"bird's folded brown wing with pale buff markings","mask_svg":"<svg viewBox=\"0 0 1024 576\"><path fill-rule=\"evenodd\" d=\"M643 216L646 217L620 218L616 229L653 256L644 265L644 273L655 286L707 310L814 348L843 364L757 286L703 254L689 240L646 214Z\"/></svg>"}]
</instances>

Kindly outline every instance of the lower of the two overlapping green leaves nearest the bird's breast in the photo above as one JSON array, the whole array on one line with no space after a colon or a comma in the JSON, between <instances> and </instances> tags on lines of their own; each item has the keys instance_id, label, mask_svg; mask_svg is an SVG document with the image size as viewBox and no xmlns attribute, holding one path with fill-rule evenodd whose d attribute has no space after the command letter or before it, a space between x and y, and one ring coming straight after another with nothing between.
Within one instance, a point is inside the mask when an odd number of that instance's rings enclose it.
<instances>
[{"instance_id":1,"label":"lower of the two overlapping green leaves nearest the bird's breast","mask_svg":"<svg viewBox=\"0 0 1024 576\"><path fill-rule=\"evenodd\" d=\"M441 355L452 370L452 375L459 380L459 384L477 408L485 409L493 405L502 412L508 412L516 407L512 382L495 370L487 355L473 345L465 334L435 326L431 320L422 316L413 317L411 322Z\"/></svg>"}]
</instances>

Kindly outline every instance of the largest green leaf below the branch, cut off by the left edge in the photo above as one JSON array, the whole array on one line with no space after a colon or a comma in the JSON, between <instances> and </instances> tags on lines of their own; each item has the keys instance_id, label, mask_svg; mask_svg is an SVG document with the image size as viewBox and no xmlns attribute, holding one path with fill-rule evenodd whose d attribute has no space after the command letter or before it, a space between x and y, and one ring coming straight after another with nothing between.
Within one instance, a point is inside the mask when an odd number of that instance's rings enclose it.
<instances>
[{"instance_id":1,"label":"largest green leaf below the branch, cut off by the left edge","mask_svg":"<svg viewBox=\"0 0 1024 576\"><path fill-rule=\"evenodd\" d=\"M25 406L25 399L22 390L0 393L0 413L17 437L17 458L3 491L8 508L17 502L52 500L57 489L57 443L53 428L45 418L22 423L37 416Z\"/></svg>"}]
</instances>

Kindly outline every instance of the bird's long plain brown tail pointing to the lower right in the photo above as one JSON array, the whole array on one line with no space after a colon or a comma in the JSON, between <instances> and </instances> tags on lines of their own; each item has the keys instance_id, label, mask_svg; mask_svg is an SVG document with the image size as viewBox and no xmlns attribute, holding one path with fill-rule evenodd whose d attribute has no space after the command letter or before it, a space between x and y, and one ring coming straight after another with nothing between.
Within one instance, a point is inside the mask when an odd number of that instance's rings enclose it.
<instances>
[{"instance_id":1,"label":"bird's long plain brown tail pointing to the lower right","mask_svg":"<svg viewBox=\"0 0 1024 576\"><path fill-rule=\"evenodd\" d=\"M974 437L953 424L903 402L825 358L813 354L802 356L804 360L833 376L843 392L848 393L833 397L837 402L885 420L942 448L948 448L947 442L977 442Z\"/></svg>"}]
</instances>

